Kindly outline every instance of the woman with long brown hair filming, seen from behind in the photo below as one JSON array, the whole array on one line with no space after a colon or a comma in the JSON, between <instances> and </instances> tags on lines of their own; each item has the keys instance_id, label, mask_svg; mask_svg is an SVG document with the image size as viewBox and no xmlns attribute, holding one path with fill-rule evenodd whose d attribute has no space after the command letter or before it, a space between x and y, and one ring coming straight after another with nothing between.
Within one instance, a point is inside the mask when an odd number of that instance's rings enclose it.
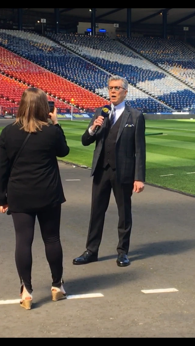
<instances>
[{"instance_id":1,"label":"woman with long brown hair filming, seen from behind","mask_svg":"<svg viewBox=\"0 0 195 346\"><path fill-rule=\"evenodd\" d=\"M66 298L60 243L61 204L66 199L57 157L68 154L56 108L49 112L48 99L42 90L25 90L16 121L0 135L0 212L9 210L14 222L20 305L27 310L32 305L31 248L36 216L52 275L52 300Z\"/></svg>"}]
</instances>

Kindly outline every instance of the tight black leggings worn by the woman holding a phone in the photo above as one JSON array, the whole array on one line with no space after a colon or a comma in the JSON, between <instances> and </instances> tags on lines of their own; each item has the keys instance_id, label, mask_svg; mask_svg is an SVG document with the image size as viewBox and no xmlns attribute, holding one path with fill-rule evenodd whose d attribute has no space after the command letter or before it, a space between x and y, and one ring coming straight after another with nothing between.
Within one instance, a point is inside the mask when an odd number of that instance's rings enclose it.
<instances>
[{"instance_id":1,"label":"tight black leggings worn by the woman holding a phone","mask_svg":"<svg viewBox=\"0 0 195 346\"><path fill-rule=\"evenodd\" d=\"M32 213L11 212L16 231L15 260L20 282L24 283L31 294L32 243L34 238L35 219L39 221L41 235L45 244L45 254L48 260L52 286L60 288L62 282L62 247L60 243L61 204L49 207L44 211Z\"/></svg>"}]
</instances>

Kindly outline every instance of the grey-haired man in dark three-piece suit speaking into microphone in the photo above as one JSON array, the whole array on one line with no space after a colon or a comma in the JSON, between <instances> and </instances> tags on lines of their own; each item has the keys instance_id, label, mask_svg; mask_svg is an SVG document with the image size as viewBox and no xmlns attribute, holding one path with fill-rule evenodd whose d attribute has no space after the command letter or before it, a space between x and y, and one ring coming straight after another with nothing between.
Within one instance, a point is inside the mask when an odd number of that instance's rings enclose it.
<instances>
[{"instance_id":1,"label":"grey-haired man in dark three-piece suit speaking into microphone","mask_svg":"<svg viewBox=\"0 0 195 346\"><path fill-rule=\"evenodd\" d=\"M86 251L73 264L87 264L98 260L105 212L111 190L118 207L119 222L117 246L118 266L128 266L130 234L132 229L131 197L142 192L145 182L145 119L142 113L125 104L128 81L119 76L109 79L108 90L112 112L108 118L97 109L82 144L96 143L91 176L93 176L91 218ZM97 126L100 129L95 132Z\"/></svg>"}]
</instances>

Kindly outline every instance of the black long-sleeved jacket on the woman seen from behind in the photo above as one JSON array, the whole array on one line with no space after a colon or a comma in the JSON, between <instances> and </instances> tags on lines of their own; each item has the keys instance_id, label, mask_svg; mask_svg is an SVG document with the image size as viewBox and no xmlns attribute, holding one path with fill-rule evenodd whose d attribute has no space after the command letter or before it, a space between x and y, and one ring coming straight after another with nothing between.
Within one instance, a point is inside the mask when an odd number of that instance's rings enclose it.
<instances>
[{"instance_id":1,"label":"black long-sleeved jacket on the woman seen from behind","mask_svg":"<svg viewBox=\"0 0 195 346\"><path fill-rule=\"evenodd\" d=\"M66 201L57 157L69 153L59 125L43 126L31 134L10 176L10 168L27 133L19 125L0 135L0 205L14 212L31 212Z\"/></svg>"}]
</instances>

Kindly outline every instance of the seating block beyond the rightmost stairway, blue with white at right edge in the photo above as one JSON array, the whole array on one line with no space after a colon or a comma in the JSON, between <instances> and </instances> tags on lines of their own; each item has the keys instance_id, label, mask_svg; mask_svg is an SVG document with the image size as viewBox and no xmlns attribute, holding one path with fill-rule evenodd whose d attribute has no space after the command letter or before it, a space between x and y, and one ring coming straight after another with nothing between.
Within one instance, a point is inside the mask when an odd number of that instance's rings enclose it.
<instances>
[{"instance_id":1,"label":"seating block beyond the rightmost stairway, blue with white at right edge","mask_svg":"<svg viewBox=\"0 0 195 346\"><path fill-rule=\"evenodd\" d=\"M195 49L178 39L120 37L118 40L195 89Z\"/></svg>"}]
</instances>

